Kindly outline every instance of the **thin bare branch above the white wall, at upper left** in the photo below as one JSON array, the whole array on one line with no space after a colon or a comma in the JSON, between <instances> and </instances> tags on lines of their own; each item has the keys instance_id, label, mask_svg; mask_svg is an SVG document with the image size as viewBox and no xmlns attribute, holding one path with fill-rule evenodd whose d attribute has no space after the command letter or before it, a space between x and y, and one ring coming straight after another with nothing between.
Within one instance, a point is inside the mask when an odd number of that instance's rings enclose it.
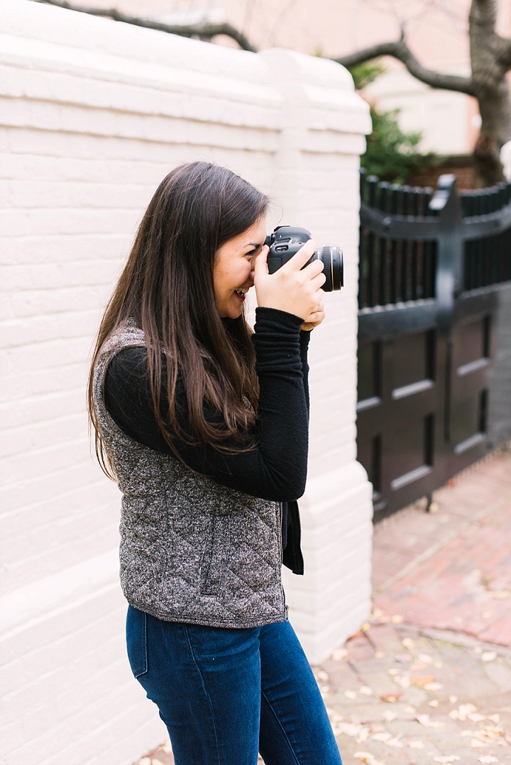
<instances>
[{"instance_id":1,"label":"thin bare branch above the white wall, at upper left","mask_svg":"<svg viewBox=\"0 0 511 765\"><path fill-rule=\"evenodd\" d=\"M217 34L225 34L236 41L242 50L250 50L252 53L256 52L255 47L249 43L245 35L231 26L231 24L187 24L186 26L161 24L159 21L127 16L117 11L116 8L84 8L81 5L71 5L71 3L65 2L65 0L35 0L35 2L58 5L59 8L67 8L69 11L88 13L93 16L107 16L114 21L124 21L125 24L135 24L137 27L156 29L161 32L168 32L169 34L178 34L181 37L200 37L201 39L210 40L212 37L216 37Z\"/></svg>"}]
</instances>

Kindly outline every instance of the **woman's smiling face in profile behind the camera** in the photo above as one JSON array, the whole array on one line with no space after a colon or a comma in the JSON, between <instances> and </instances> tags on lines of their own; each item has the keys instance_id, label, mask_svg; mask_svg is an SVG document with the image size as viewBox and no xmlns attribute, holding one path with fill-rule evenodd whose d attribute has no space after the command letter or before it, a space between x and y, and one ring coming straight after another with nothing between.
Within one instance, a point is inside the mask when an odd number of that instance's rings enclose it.
<instances>
[{"instance_id":1,"label":"woman's smiling face in profile behind the camera","mask_svg":"<svg viewBox=\"0 0 511 765\"><path fill-rule=\"evenodd\" d=\"M266 219L262 217L216 250L213 288L221 317L241 316L246 293L254 286L252 263L265 238Z\"/></svg>"}]
</instances>

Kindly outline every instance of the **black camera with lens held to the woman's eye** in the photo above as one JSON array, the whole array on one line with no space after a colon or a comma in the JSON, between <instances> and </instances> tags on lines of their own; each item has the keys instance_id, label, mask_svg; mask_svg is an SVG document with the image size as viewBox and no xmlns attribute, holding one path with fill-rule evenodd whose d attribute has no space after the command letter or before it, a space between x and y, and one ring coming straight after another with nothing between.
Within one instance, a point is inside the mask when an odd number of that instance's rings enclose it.
<instances>
[{"instance_id":1,"label":"black camera with lens held to the woman's eye","mask_svg":"<svg viewBox=\"0 0 511 765\"><path fill-rule=\"evenodd\" d=\"M277 226L266 237L265 244L269 246L268 270L270 274L281 268L288 262L298 250L311 239L311 232L300 229L298 226ZM343 251L339 247L322 247L314 252L314 255L305 263L308 265L313 260L321 260L324 264L324 275L327 281L322 289L325 292L339 290L343 286ZM304 268L305 268L304 265Z\"/></svg>"}]
</instances>

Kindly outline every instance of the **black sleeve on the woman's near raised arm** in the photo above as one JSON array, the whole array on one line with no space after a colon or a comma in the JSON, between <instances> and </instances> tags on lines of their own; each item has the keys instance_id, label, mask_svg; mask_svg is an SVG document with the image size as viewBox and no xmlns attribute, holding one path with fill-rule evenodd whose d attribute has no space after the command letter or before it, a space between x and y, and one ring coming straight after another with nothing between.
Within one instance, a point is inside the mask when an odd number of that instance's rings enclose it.
<instances>
[{"instance_id":1,"label":"black sleeve on the woman's near raised arm","mask_svg":"<svg viewBox=\"0 0 511 765\"><path fill-rule=\"evenodd\" d=\"M224 486L287 502L304 493L308 455L308 403L304 388L303 359L307 365L308 334L300 331L302 320L272 308L257 308L255 370L259 376L259 406L253 448L236 454L200 442L176 445L184 463ZM163 381L162 381L163 382ZM164 387L161 412L168 402ZM152 409L145 348L126 348L109 363L105 379L105 403L109 414L135 441L172 454L161 435ZM184 388L178 384L176 411L179 423L190 433ZM205 416L218 422L218 412L204 409ZM237 441L226 445L246 447Z\"/></svg>"}]
</instances>

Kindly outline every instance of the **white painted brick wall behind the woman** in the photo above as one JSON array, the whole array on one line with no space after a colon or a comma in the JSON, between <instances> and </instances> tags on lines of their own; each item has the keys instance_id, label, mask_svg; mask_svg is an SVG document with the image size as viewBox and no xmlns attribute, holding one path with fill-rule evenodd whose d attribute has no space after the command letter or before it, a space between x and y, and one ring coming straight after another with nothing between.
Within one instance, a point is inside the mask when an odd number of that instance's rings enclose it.
<instances>
[{"instance_id":1,"label":"white painted brick wall behind the woman","mask_svg":"<svg viewBox=\"0 0 511 765\"><path fill-rule=\"evenodd\" d=\"M347 286L327 295L311 343L307 573L286 576L291 620L323 658L369 607L370 487L355 461L369 118L334 63L27 0L0 0L0 73L0 762L129 765L166 732L125 657L119 491L90 457L99 317L151 194L182 161L226 164L275 197L272 225L343 246Z\"/></svg>"}]
</instances>

